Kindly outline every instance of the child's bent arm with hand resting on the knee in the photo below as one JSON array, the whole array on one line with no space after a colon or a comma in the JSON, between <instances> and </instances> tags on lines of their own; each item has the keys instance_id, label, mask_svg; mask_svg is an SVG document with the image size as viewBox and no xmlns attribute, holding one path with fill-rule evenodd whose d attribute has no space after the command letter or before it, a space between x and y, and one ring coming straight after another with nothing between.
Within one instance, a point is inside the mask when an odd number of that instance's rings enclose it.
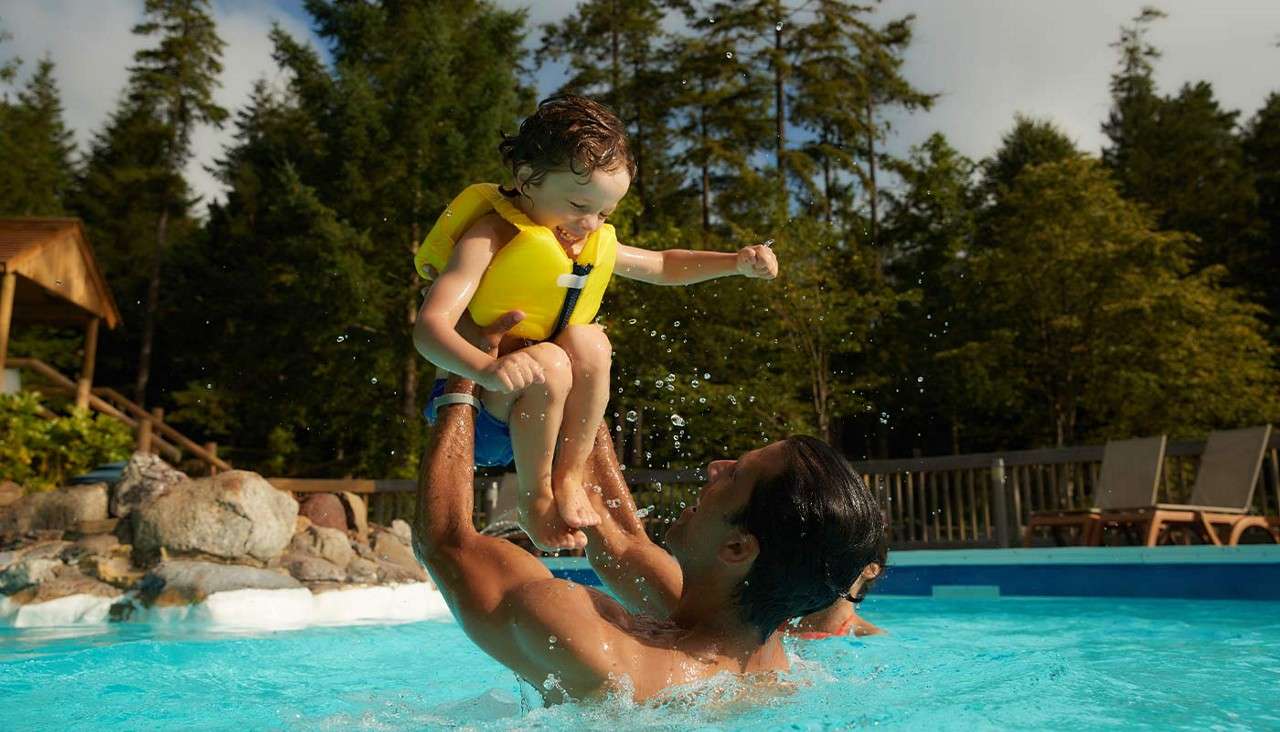
<instances>
[{"instance_id":1,"label":"child's bent arm with hand resting on the knee","mask_svg":"<svg viewBox=\"0 0 1280 732\"><path fill-rule=\"evenodd\" d=\"M458 319L475 296L498 241L498 232L485 219L476 221L458 239L449 264L431 284L417 312L413 346L424 358L452 374L490 392L509 393L541 381L541 366L521 351L495 360L457 330Z\"/></svg>"}]
</instances>

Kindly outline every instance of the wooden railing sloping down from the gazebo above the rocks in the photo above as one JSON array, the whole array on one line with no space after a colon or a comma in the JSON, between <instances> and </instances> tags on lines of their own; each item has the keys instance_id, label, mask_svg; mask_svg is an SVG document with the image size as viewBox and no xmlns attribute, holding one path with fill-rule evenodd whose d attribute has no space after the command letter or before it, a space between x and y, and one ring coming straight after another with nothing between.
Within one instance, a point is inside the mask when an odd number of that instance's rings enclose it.
<instances>
[{"instance_id":1,"label":"wooden railing sloping down from the gazebo above the rocks","mask_svg":"<svg viewBox=\"0 0 1280 732\"><path fill-rule=\"evenodd\" d=\"M56 369L38 358L9 358L8 365L38 374L52 390L76 393L77 384ZM133 430L134 447L140 452L154 452L177 463L189 454L209 467L209 472L232 470L230 463L218 457L218 444L197 444L164 421L164 410L150 412L127 399L115 389L95 388L88 394L88 407L125 424Z\"/></svg>"}]
</instances>

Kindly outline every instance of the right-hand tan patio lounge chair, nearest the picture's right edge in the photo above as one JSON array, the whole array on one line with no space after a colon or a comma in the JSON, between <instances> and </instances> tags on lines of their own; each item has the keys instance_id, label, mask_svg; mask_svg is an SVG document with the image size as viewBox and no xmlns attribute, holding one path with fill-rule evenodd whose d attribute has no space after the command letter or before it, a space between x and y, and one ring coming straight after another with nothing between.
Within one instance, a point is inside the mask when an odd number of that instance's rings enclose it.
<instances>
[{"instance_id":1,"label":"right-hand tan patio lounge chair, nearest the picture's right edge","mask_svg":"<svg viewBox=\"0 0 1280 732\"><path fill-rule=\"evenodd\" d=\"M1221 546L1219 530L1226 529L1226 545L1235 546L1245 530L1268 530L1265 517L1249 516L1248 512L1270 440L1271 425L1211 433L1188 503L1151 502L1135 508L1105 511L1100 518L1100 537L1106 526L1144 527L1143 544L1155 546L1162 530L1180 526ZM1276 535L1272 534L1272 537Z\"/></svg>"}]
</instances>

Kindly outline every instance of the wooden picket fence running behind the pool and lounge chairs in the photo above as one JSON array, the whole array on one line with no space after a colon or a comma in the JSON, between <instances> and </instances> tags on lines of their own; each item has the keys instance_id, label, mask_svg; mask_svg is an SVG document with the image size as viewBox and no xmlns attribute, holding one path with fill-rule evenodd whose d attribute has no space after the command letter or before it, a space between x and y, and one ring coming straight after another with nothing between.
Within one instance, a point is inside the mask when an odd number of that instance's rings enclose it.
<instances>
[{"instance_id":1,"label":"wooden picket fence running behind the pool and lounge chairs","mask_svg":"<svg viewBox=\"0 0 1280 732\"><path fill-rule=\"evenodd\" d=\"M1196 481L1203 442L1171 442L1158 498L1181 503ZM1087 508L1102 468L1102 445L1011 450L854 463L876 493L895 549L1018 545L1036 511ZM650 535L660 539L684 507L696 500L699 470L626 468ZM476 479L476 522L484 526L497 498L494 477ZM413 516L412 480L271 479L284 490L352 490L369 502L370 520L389 523ZM1280 435L1272 435L1253 493L1254 513L1280 513Z\"/></svg>"}]
</instances>

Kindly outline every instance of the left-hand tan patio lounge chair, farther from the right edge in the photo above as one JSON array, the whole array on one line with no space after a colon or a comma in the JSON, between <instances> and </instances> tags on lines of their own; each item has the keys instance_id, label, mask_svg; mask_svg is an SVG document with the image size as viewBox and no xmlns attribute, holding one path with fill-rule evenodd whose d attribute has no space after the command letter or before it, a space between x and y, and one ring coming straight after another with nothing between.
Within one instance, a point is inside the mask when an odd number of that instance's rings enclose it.
<instances>
[{"instance_id":1,"label":"left-hand tan patio lounge chair, farther from the right edge","mask_svg":"<svg viewBox=\"0 0 1280 732\"><path fill-rule=\"evenodd\" d=\"M1093 493L1093 505L1071 511L1037 511L1032 513L1023 534L1023 546L1032 545L1037 529L1050 529L1057 536L1064 527L1079 529L1080 544L1094 546L1098 520L1103 511L1124 505L1149 505L1160 489L1160 471L1165 465L1165 435L1107 440L1102 450L1102 473Z\"/></svg>"}]
</instances>

